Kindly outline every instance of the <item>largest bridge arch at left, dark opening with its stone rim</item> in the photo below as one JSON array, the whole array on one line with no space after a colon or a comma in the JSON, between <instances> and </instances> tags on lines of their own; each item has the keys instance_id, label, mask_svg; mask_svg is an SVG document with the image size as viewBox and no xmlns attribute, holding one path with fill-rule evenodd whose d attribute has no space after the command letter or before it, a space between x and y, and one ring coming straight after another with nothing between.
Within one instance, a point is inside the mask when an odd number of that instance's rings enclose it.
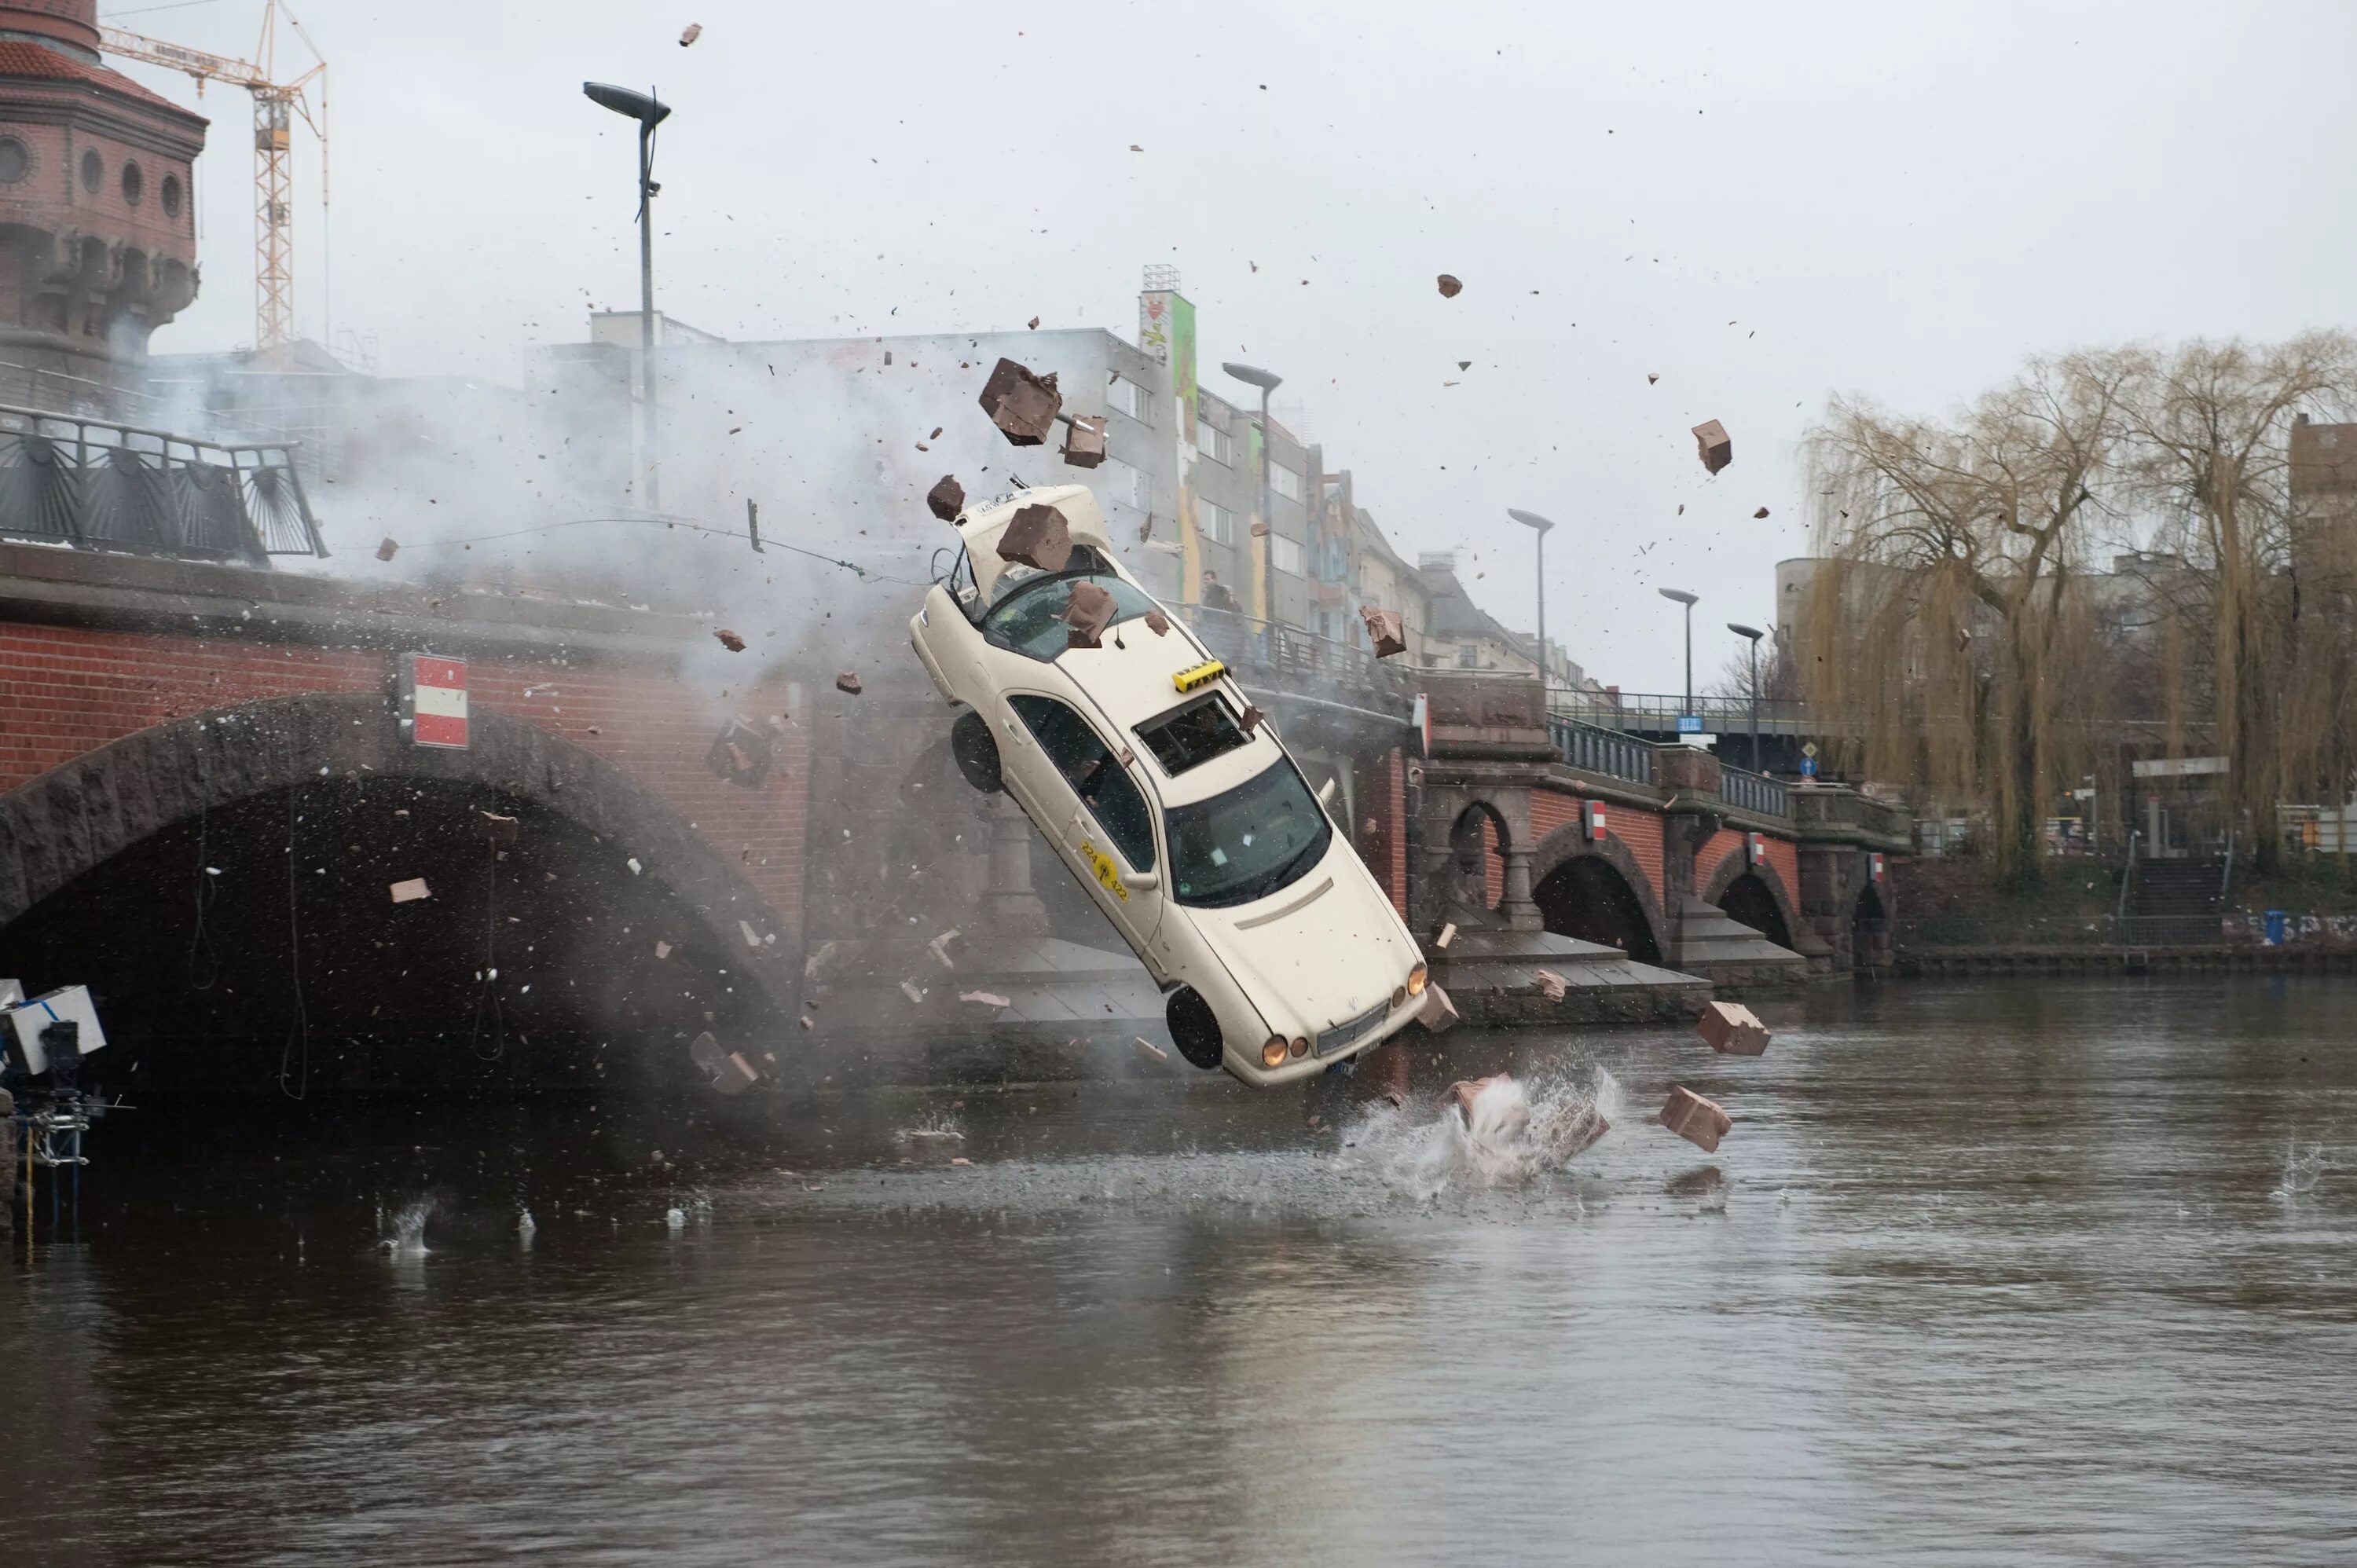
<instances>
[{"instance_id":1,"label":"largest bridge arch at left, dark opening with its stone rim","mask_svg":"<svg viewBox=\"0 0 2357 1568\"><path fill-rule=\"evenodd\" d=\"M372 722L391 731L382 700L207 714L0 797L0 884L19 891L0 974L92 988L94 1082L318 1101L686 1089L700 1030L754 1061L785 1037L761 964L792 960L698 865L714 856L686 823L521 722L486 726L474 757L379 747L361 769L330 745ZM99 799L120 806L106 832ZM412 879L427 896L394 903Z\"/></svg>"}]
</instances>

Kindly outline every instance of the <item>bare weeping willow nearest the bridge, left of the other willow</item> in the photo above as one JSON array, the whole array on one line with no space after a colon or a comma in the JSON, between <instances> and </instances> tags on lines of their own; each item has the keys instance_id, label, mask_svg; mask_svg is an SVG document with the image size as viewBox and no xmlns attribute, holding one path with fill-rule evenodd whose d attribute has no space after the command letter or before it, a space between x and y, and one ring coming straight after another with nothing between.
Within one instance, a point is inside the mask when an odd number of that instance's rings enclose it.
<instances>
[{"instance_id":1,"label":"bare weeping willow nearest the bridge, left of the other willow","mask_svg":"<svg viewBox=\"0 0 2357 1568\"><path fill-rule=\"evenodd\" d=\"M1987 809L2013 879L2091 757L2095 618L2079 578L2112 507L2126 354L2032 361L1954 420L1838 401L1808 439L1820 568L1808 696L1869 776Z\"/></svg>"}]
</instances>

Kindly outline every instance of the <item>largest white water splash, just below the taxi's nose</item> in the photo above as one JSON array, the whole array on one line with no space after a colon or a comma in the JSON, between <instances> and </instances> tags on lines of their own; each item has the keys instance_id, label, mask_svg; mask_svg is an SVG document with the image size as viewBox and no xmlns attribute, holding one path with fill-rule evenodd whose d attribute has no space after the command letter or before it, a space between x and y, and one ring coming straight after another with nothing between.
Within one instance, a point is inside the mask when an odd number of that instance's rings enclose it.
<instances>
[{"instance_id":1,"label":"largest white water splash, just below the taxi's nose","mask_svg":"<svg viewBox=\"0 0 2357 1568\"><path fill-rule=\"evenodd\" d=\"M1374 1103L1346 1139L1341 1165L1431 1203L1450 1188L1520 1186L1593 1148L1622 1115L1619 1082L1600 1066L1586 1082L1485 1078L1438 1108Z\"/></svg>"}]
</instances>

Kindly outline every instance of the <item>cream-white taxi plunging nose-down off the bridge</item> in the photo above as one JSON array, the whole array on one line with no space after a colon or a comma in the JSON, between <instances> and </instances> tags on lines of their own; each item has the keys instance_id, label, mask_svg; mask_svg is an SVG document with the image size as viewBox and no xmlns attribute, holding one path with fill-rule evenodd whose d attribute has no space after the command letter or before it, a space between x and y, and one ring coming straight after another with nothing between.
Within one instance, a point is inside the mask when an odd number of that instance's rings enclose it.
<instances>
[{"instance_id":1,"label":"cream-white taxi plunging nose-down off the bridge","mask_svg":"<svg viewBox=\"0 0 2357 1568\"><path fill-rule=\"evenodd\" d=\"M1056 507L1063 571L997 554L1018 507ZM1004 788L1162 986L1178 1054L1252 1085L1322 1073L1424 1007L1424 955L1268 724L1176 615L1113 559L1084 486L1021 490L957 519L962 552L910 644L969 707L966 780ZM1072 648L1072 587L1113 594ZM1332 785L1329 785L1332 788Z\"/></svg>"}]
</instances>

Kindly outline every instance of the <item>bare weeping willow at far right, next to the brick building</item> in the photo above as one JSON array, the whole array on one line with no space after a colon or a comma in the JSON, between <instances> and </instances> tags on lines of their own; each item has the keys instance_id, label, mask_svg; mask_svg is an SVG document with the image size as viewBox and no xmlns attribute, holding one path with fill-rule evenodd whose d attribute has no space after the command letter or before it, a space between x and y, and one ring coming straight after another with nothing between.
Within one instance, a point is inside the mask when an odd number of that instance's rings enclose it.
<instances>
[{"instance_id":1,"label":"bare weeping willow at far right, next to the brick building","mask_svg":"<svg viewBox=\"0 0 2357 1568\"><path fill-rule=\"evenodd\" d=\"M2336 531L2298 535L2289 446L2296 420L2357 401L2357 340L2190 342L2131 363L2133 481L2187 582L2161 606L2190 653L2171 707L2206 719L2209 745L2227 759L2227 821L2249 823L2253 856L2272 865L2275 804L2326 788L2338 802L2348 788L2348 615L2308 615L2303 627L2298 578L2305 554L2322 568L2315 587L2331 587L2348 542ZM2201 700L2183 700L2187 689ZM2183 750L2183 726L2171 731L2171 750Z\"/></svg>"}]
</instances>

